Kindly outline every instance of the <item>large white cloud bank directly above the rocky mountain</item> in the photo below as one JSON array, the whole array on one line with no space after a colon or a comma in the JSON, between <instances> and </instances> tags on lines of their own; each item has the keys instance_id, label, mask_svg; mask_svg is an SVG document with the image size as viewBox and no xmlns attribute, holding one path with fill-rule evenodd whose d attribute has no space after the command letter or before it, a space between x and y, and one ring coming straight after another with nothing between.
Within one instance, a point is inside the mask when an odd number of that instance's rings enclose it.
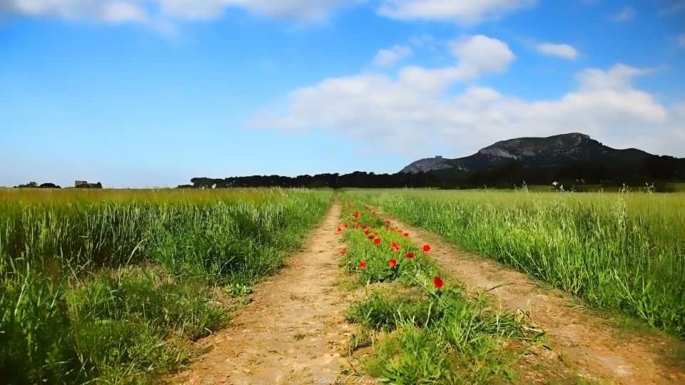
<instances>
[{"instance_id":1,"label":"large white cloud bank directly above the rocky mountain","mask_svg":"<svg viewBox=\"0 0 685 385\"><path fill-rule=\"evenodd\" d=\"M468 155L497 140L569 132L617 147L683 146L685 135L679 141L673 135L682 134L683 120L674 117L685 113L684 105L669 114L653 95L631 86L633 76L651 71L624 64L587 68L577 74L575 91L557 100L524 101L482 86L447 95L450 84L472 76L460 66L407 67L396 80L362 73L299 88L288 94L285 111L260 111L245 123L290 133L324 129L367 150L413 157L437 143Z\"/></svg>"}]
</instances>

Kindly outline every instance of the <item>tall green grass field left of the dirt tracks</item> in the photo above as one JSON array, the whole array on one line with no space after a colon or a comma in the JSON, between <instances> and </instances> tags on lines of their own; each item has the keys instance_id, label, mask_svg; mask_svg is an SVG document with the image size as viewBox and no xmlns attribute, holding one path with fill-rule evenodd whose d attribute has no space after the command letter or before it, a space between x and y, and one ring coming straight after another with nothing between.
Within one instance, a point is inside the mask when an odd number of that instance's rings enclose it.
<instances>
[{"instance_id":1,"label":"tall green grass field left of the dirt tracks","mask_svg":"<svg viewBox=\"0 0 685 385\"><path fill-rule=\"evenodd\" d=\"M0 190L0 382L146 382L225 322L216 287L277 270L312 190Z\"/></svg>"}]
</instances>

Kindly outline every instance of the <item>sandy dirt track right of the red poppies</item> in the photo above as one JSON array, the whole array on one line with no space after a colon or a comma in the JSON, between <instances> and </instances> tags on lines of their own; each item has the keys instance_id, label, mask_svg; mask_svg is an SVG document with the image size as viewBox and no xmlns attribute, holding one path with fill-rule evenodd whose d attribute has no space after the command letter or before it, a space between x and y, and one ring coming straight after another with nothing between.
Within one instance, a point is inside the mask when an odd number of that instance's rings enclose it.
<instances>
[{"instance_id":1,"label":"sandy dirt track right of the red poppies","mask_svg":"<svg viewBox=\"0 0 685 385\"><path fill-rule=\"evenodd\" d=\"M378 212L382 212L378 210ZM392 215L383 214L392 219ZM672 349L685 344L658 333L618 334L606 319L577 305L577 301L559 290L543 289L525 274L497 262L477 257L442 240L442 237L394 220L410 232L418 245L432 247L430 255L440 267L458 277L470 292L491 289L494 304L503 309L522 309L534 324L547 332L552 351L539 349L523 364L532 368L547 354L547 359L563 361L567 367L588 379L611 379L617 384L685 384L685 362L666 362ZM540 351L542 350L542 351ZM658 354L661 351L663 354ZM549 354L554 353L552 357ZM682 357L681 357L682 359ZM528 381L545 382L535 378Z\"/></svg>"}]
</instances>

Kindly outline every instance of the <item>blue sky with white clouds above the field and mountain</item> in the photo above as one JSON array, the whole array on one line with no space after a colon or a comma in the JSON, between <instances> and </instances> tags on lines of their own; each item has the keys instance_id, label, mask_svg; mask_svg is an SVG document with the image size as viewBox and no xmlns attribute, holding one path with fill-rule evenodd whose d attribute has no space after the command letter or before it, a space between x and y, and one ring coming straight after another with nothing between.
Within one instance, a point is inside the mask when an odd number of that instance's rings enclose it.
<instances>
[{"instance_id":1,"label":"blue sky with white clouds above the field and mountain","mask_svg":"<svg viewBox=\"0 0 685 385\"><path fill-rule=\"evenodd\" d=\"M685 157L685 0L0 0L0 186Z\"/></svg>"}]
</instances>

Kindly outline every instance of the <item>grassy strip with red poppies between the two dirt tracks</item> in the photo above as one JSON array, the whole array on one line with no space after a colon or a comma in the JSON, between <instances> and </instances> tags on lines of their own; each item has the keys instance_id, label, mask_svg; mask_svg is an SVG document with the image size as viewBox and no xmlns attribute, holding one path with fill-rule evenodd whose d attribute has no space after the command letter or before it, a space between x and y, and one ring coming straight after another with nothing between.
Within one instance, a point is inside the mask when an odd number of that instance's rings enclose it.
<instances>
[{"instance_id":1,"label":"grassy strip with red poppies between the two dirt tracks","mask_svg":"<svg viewBox=\"0 0 685 385\"><path fill-rule=\"evenodd\" d=\"M542 344L543 333L521 317L497 311L481 293L468 299L442 277L410 235L382 220L361 201L345 200L347 247L342 265L367 294L347 312L360 325L350 350L372 347L355 370L393 384L455 384L514 381L522 347Z\"/></svg>"}]
</instances>

